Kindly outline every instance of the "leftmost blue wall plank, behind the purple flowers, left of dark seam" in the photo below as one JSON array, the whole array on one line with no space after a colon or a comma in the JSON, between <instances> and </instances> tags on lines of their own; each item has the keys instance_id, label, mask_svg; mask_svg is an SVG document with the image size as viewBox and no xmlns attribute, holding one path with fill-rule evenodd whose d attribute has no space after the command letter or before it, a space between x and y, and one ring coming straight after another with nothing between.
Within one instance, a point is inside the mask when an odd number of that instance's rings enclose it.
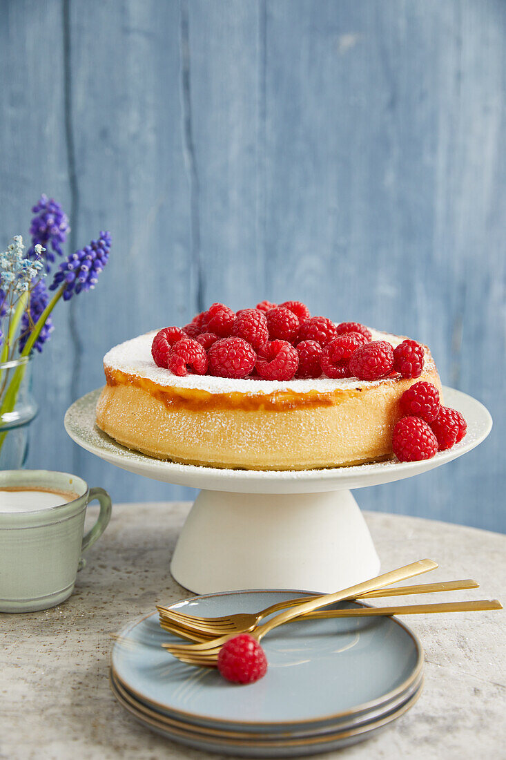
<instances>
[{"instance_id":1,"label":"leftmost blue wall plank, behind the purple flowers, left of dark seam","mask_svg":"<svg viewBox=\"0 0 506 760\"><path fill-rule=\"evenodd\" d=\"M2 250L17 234L29 243L30 208L41 192L70 208L63 62L61 4L0 3ZM61 432L62 408L71 397L71 332L63 310L54 322L51 348L34 365L40 414L32 426L30 464L72 471L72 447Z\"/></svg>"}]
</instances>

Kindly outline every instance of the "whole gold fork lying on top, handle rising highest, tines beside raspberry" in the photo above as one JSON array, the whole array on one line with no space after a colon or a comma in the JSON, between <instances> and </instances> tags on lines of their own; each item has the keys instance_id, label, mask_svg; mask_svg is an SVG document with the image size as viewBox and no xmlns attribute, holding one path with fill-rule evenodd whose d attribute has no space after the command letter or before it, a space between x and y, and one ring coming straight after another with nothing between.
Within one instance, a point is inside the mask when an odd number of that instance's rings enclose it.
<instances>
[{"instance_id":1,"label":"whole gold fork lying on top, handle rising highest, tines beside raspberry","mask_svg":"<svg viewBox=\"0 0 506 760\"><path fill-rule=\"evenodd\" d=\"M326 607L328 604L333 604L334 602L340 602L350 598L353 599L360 594L365 594L367 591L373 591L374 589L398 583L399 581L405 581L406 578L413 578L414 575L422 575L422 573L429 572L437 567L437 562L434 562L432 559L420 559L418 562L410 562L410 565L404 565L402 568L397 568L397 570L383 573L382 575L378 575L376 578L371 578L363 583L350 586L341 591L336 591L334 594L324 594L321 597L316 597L307 602L299 603L291 609L285 610L283 613L267 620L262 625L257 625L252 631L250 631L250 634L254 636L257 641L261 641L261 638L263 638L266 633L276 628L277 625L282 625L296 617L305 615L306 613L312 613L315 610L318 610L321 607ZM230 633L220 636L219 638L213 638L211 641L204 641L201 644L162 644L162 646L169 651L170 654L173 654L174 657L177 657L183 662L215 667L218 653L229 638L231 638Z\"/></svg>"}]
</instances>

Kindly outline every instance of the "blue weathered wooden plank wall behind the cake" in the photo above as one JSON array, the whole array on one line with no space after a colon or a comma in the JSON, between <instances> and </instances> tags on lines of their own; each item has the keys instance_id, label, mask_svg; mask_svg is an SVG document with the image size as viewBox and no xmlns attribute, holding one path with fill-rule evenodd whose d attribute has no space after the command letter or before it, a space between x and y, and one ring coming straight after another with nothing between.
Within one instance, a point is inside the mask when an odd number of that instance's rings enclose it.
<instances>
[{"instance_id":1,"label":"blue weathered wooden plank wall behind the cake","mask_svg":"<svg viewBox=\"0 0 506 760\"><path fill-rule=\"evenodd\" d=\"M504 530L505 38L501 0L2 0L2 245L40 192L71 247L113 238L37 359L30 466L188 496L81 451L65 409L113 344L299 298L425 341L495 417L479 450L361 504Z\"/></svg>"}]
</instances>

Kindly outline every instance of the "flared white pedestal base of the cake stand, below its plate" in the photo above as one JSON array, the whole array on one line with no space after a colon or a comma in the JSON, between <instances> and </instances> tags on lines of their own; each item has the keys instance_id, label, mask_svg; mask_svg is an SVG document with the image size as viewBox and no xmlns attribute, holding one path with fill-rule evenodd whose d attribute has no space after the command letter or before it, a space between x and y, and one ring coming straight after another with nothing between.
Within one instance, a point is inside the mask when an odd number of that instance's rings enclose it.
<instances>
[{"instance_id":1,"label":"flared white pedestal base of the cake stand, below its plate","mask_svg":"<svg viewBox=\"0 0 506 760\"><path fill-rule=\"evenodd\" d=\"M378 575L380 561L351 492L202 490L170 569L195 594L253 588L336 591Z\"/></svg>"}]
</instances>

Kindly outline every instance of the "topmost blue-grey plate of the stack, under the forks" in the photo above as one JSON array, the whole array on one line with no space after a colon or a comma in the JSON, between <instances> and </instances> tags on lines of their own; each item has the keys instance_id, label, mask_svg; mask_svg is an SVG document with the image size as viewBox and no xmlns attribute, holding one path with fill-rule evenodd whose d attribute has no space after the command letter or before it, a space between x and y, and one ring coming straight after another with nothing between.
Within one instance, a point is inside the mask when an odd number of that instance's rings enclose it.
<instances>
[{"instance_id":1,"label":"topmost blue-grey plate of the stack, under the forks","mask_svg":"<svg viewBox=\"0 0 506 760\"><path fill-rule=\"evenodd\" d=\"M198 616L255 612L307 591L241 591L174 605ZM340 606L360 606L340 603ZM339 606L339 605L338 605ZM172 637L157 613L122 631L112 650L115 679L134 698L186 724L225 730L313 730L374 710L407 692L423 667L422 647L394 618L293 622L262 641L263 679L234 686L161 647Z\"/></svg>"}]
</instances>

